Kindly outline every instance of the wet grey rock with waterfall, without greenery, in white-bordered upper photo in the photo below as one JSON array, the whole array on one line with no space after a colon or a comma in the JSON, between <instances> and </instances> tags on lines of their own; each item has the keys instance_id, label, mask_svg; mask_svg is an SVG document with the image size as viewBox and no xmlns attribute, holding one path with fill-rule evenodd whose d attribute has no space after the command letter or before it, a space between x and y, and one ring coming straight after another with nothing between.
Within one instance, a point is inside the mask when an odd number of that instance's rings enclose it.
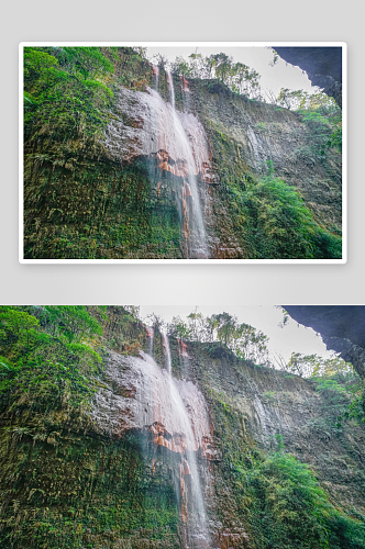
<instances>
[{"instance_id":1,"label":"wet grey rock with waterfall, without greenery, in white-bordered upper photo","mask_svg":"<svg viewBox=\"0 0 365 549\"><path fill-rule=\"evenodd\" d=\"M240 259L251 254L240 229L242 220L235 220L239 213L231 210L234 198L226 193L237 183L244 190L250 175L267 175L267 163L277 177L300 190L318 223L341 233L339 158L332 153L324 163L319 158L300 117L237 97L221 85L208 87L176 77L175 109L168 99L173 89L166 85L168 78L159 75L159 83L155 82L159 93L152 88L119 88L104 144L113 163L142 161L155 208L162 212L166 204L177 209L185 257ZM201 246L193 243L193 235L203 226Z\"/></svg>"}]
</instances>

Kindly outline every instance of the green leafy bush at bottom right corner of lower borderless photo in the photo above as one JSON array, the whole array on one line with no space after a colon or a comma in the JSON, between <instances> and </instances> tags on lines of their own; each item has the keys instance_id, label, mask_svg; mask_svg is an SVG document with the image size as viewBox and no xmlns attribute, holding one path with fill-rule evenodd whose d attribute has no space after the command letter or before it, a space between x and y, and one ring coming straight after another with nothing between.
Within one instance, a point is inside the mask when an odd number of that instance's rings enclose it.
<instances>
[{"instance_id":1,"label":"green leafy bush at bottom right corner of lower borderless photo","mask_svg":"<svg viewBox=\"0 0 365 549\"><path fill-rule=\"evenodd\" d=\"M365 547L365 517L356 520L338 511L307 464L283 450L252 464L241 482L259 549Z\"/></svg>"}]
</instances>

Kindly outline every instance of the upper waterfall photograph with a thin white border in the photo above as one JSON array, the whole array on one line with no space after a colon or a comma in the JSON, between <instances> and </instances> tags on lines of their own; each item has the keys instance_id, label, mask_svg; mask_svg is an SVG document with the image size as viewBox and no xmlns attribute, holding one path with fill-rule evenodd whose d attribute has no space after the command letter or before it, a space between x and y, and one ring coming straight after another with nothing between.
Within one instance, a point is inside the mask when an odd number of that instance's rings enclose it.
<instances>
[{"instance_id":1,"label":"upper waterfall photograph with a thin white border","mask_svg":"<svg viewBox=\"0 0 365 549\"><path fill-rule=\"evenodd\" d=\"M345 43L20 44L20 262L346 262Z\"/></svg>"}]
</instances>

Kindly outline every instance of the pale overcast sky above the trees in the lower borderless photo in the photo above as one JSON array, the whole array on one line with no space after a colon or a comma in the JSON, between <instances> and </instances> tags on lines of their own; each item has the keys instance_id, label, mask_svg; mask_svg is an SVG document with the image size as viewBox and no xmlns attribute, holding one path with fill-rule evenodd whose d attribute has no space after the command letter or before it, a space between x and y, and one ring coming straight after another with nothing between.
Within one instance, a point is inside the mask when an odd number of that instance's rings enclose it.
<instances>
[{"instance_id":1,"label":"pale overcast sky above the trees in the lower borderless photo","mask_svg":"<svg viewBox=\"0 0 365 549\"><path fill-rule=\"evenodd\" d=\"M152 313L162 316L165 322L170 322L173 316L186 318L195 309L195 305L142 305L141 315L145 318L146 324L148 324L147 315ZM321 336L318 336L311 328L301 326L290 317L288 323L280 327L283 312L273 305L201 305L198 309L204 316L226 312L237 316L241 323L261 329L269 337L270 354L273 356L281 355L286 361L289 360L291 352L320 355L324 358L332 356L332 352L327 350Z\"/></svg>"}]
</instances>

